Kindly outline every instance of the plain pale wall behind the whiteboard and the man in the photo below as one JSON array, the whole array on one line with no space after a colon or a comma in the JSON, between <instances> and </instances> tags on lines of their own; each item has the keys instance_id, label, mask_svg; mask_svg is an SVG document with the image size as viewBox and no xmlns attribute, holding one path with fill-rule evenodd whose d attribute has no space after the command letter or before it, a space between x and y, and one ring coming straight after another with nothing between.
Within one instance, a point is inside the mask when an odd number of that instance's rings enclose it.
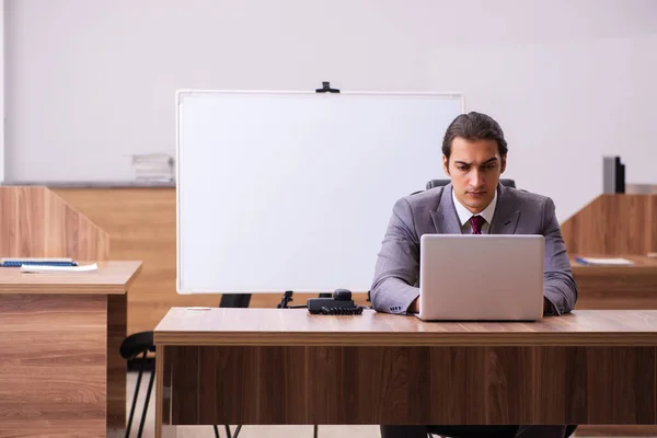
<instances>
[{"instance_id":1,"label":"plain pale wall behind the whiteboard and the man","mask_svg":"<svg viewBox=\"0 0 657 438\"><path fill-rule=\"evenodd\" d=\"M565 219L602 155L657 183L653 0L7 0L5 180L130 180L178 88L457 91ZM285 159L285 158L281 158ZM436 176L441 176L436 145Z\"/></svg>"}]
</instances>

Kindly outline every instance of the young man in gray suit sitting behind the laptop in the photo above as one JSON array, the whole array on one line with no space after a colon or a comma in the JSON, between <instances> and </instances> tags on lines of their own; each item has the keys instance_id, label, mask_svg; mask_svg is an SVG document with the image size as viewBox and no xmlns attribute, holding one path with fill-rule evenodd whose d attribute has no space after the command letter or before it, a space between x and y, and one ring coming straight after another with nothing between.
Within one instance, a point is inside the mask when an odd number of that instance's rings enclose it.
<instances>
[{"instance_id":1,"label":"young man in gray suit sitting behind the laptop","mask_svg":"<svg viewBox=\"0 0 657 438\"><path fill-rule=\"evenodd\" d=\"M473 112L450 124L442 141L442 166L451 184L407 196L394 205L371 288L377 311L419 311L419 240L426 233L544 235L543 312L560 315L573 310L577 286L554 203L499 184L506 164L507 142L493 118ZM453 437L563 438L572 430L565 426L381 426L383 438L419 438L429 431Z\"/></svg>"}]
</instances>

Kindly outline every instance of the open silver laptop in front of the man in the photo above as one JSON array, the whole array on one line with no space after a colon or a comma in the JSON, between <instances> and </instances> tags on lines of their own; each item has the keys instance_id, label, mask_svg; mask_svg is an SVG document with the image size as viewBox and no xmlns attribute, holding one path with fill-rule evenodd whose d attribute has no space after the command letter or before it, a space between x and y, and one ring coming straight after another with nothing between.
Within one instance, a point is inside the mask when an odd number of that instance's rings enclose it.
<instances>
[{"instance_id":1,"label":"open silver laptop in front of the man","mask_svg":"<svg viewBox=\"0 0 657 438\"><path fill-rule=\"evenodd\" d=\"M420 319L543 316L543 235L424 234L419 253Z\"/></svg>"}]
</instances>

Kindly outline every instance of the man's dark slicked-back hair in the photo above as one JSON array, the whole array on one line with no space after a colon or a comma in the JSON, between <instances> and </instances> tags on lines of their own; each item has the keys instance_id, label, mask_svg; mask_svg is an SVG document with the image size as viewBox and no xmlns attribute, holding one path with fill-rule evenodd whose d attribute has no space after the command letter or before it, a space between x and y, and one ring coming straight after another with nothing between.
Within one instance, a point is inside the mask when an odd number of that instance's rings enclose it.
<instances>
[{"instance_id":1,"label":"man's dark slicked-back hair","mask_svg":"<svg viewBox=\"0 0 657 438\"><path fill-rule=\"evenodd\" d=\"M442 139L442 154L447 157L447 161L449 161L449 157L451 155L451 142L457 137L470 141L495 140L497 141L499 155L503 160L508 150L499 124L482 113L471 112L461 114L449 125Z\"/></svg>"}]
</instances>

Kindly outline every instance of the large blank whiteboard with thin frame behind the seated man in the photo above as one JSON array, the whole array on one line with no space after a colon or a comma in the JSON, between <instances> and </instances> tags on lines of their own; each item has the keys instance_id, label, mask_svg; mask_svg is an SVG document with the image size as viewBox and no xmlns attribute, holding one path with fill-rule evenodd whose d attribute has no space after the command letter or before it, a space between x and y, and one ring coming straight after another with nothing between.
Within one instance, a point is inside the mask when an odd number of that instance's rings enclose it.
<instances>
[{"instance_id":1,"label":"large blank whiteboard with thin frame behind the seated man","mask_svg":"<svg viewBox=\"0 0 657 438\"><path fill-rule=\"evenodd\" d=\"M176 92L177 292L367 291L458 93Z\"/></svg>"}]
</instances>

